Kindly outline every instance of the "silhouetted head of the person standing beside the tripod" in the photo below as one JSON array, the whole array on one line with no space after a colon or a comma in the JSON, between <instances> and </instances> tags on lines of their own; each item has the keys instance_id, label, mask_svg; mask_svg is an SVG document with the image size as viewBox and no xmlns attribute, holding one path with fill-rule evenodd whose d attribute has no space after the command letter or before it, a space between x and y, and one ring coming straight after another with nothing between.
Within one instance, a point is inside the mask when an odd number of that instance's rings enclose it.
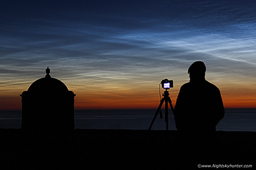
<instances>
[{"instance_id":1,"label":"silhouetted head of the person standing beside the tripod","mask_svg":"<svg viewBox=\"0 0 256 170\"><path fill-rule=\"evenodd\" d=\"M204 80L206 66L202 61L196 61L188 68L190 80Z\"/></svg>"}]
</instances>

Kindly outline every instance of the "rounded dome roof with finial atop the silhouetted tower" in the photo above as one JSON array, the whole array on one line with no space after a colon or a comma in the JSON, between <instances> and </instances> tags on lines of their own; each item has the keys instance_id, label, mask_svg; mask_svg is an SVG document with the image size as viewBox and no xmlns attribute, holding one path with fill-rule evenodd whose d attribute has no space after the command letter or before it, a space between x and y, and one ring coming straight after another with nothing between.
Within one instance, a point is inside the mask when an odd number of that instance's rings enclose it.
<instances>
[{"instance_id":1,"label":"rounded dome roof with finial atop the silhouetted tower","mask_svg":"<svg viewBox=\"0 0 256 170\"><path fill-rule=\"evenodd\" d=\"M34 81L29 89L28 92L51 92L51 93L62 93L68 92L67 86L60 80L56 78L51 78L50 76L50 69L47 67L46 75L44 78L40 78Z\"/></svg>"}]
</instances>

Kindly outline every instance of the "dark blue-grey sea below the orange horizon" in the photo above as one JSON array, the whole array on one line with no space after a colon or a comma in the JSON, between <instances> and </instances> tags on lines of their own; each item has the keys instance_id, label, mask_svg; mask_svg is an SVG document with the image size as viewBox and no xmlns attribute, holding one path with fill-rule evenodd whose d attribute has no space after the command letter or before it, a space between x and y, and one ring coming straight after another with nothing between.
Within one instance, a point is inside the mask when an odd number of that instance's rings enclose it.
<instances>
[{"instance_id":1,"label":"dark blue-grey sea below the orange horizon","mask_svg":"<svg viewBox=\"0 0 256 170\"><path fill-rule=\"evenodd\" d=\"M168 129L176 130L173 113L168 112ZM0 111L0 129L20 129L21 114L17 110ZM147 130L155 114L156 110L76 110L75 128ZM152 130L166 130L164 118L161 119L159 114ZM216 130L256 132L256 108L225 109L225 117Z\"/></svg>"}]
</instances>

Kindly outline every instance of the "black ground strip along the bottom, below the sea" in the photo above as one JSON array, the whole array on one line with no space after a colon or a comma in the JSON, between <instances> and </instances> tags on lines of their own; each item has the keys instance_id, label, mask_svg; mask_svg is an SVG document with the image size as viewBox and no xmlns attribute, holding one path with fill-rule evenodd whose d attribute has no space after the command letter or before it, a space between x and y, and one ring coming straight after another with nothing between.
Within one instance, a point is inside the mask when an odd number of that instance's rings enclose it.
<instances>
[{"instance_id":1,"label":"black ground strip along the bottom, below the sea","mask_svg":"<svg viewBox=\"0 0 256 170\"><path fill-rule=\"evenodd\" d=\"M198 169L198 164L256 169L255 134L216 132L208 139L181 138L177 131L0 129L0 169Z\"/></svg>"}]
</instances>

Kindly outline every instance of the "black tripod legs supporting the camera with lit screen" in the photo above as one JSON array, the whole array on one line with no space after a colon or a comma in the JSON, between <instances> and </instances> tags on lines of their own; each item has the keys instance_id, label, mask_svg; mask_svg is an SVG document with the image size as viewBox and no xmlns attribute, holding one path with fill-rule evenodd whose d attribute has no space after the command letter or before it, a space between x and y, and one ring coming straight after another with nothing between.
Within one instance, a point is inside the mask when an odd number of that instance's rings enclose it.
<instances>
[{"instance_id":1,"label":"black tripod legs supporting the camera with lit screen","mask_svg":"<svg viewBox=\"0 0 256 170\"><path fill-rule=\"evenodd\" d=\"M171 109L172 109L172 113L174 115L174 109L173 109L172 101L171 101L171 98L169 97L169 95L170 94L169 94L169 92L166 89L164 91L164 94L163 94L164 97L163 97L163 99L161 99L161 102L160 102L160 104L159 104L159 106L158 106L158 108L156 110L156 113L154 115L154 118L153 118L153 120L152 120L152 122L151 122L151 124L150 124L150 126L148 128L148 130L151 129L152 125L154 124L154 122L156 120L156 117L157 117L159 111L162 108L163 103L165 102L165 117L164 118L165 118L165 123L166 123L166 131L168 131L168 128L169 128L169 125L168 125L168 103L170 104ZM160 112L159 115L160 115L160 118L163 118L162 112Z\"/></svg>"}]
</instances>

